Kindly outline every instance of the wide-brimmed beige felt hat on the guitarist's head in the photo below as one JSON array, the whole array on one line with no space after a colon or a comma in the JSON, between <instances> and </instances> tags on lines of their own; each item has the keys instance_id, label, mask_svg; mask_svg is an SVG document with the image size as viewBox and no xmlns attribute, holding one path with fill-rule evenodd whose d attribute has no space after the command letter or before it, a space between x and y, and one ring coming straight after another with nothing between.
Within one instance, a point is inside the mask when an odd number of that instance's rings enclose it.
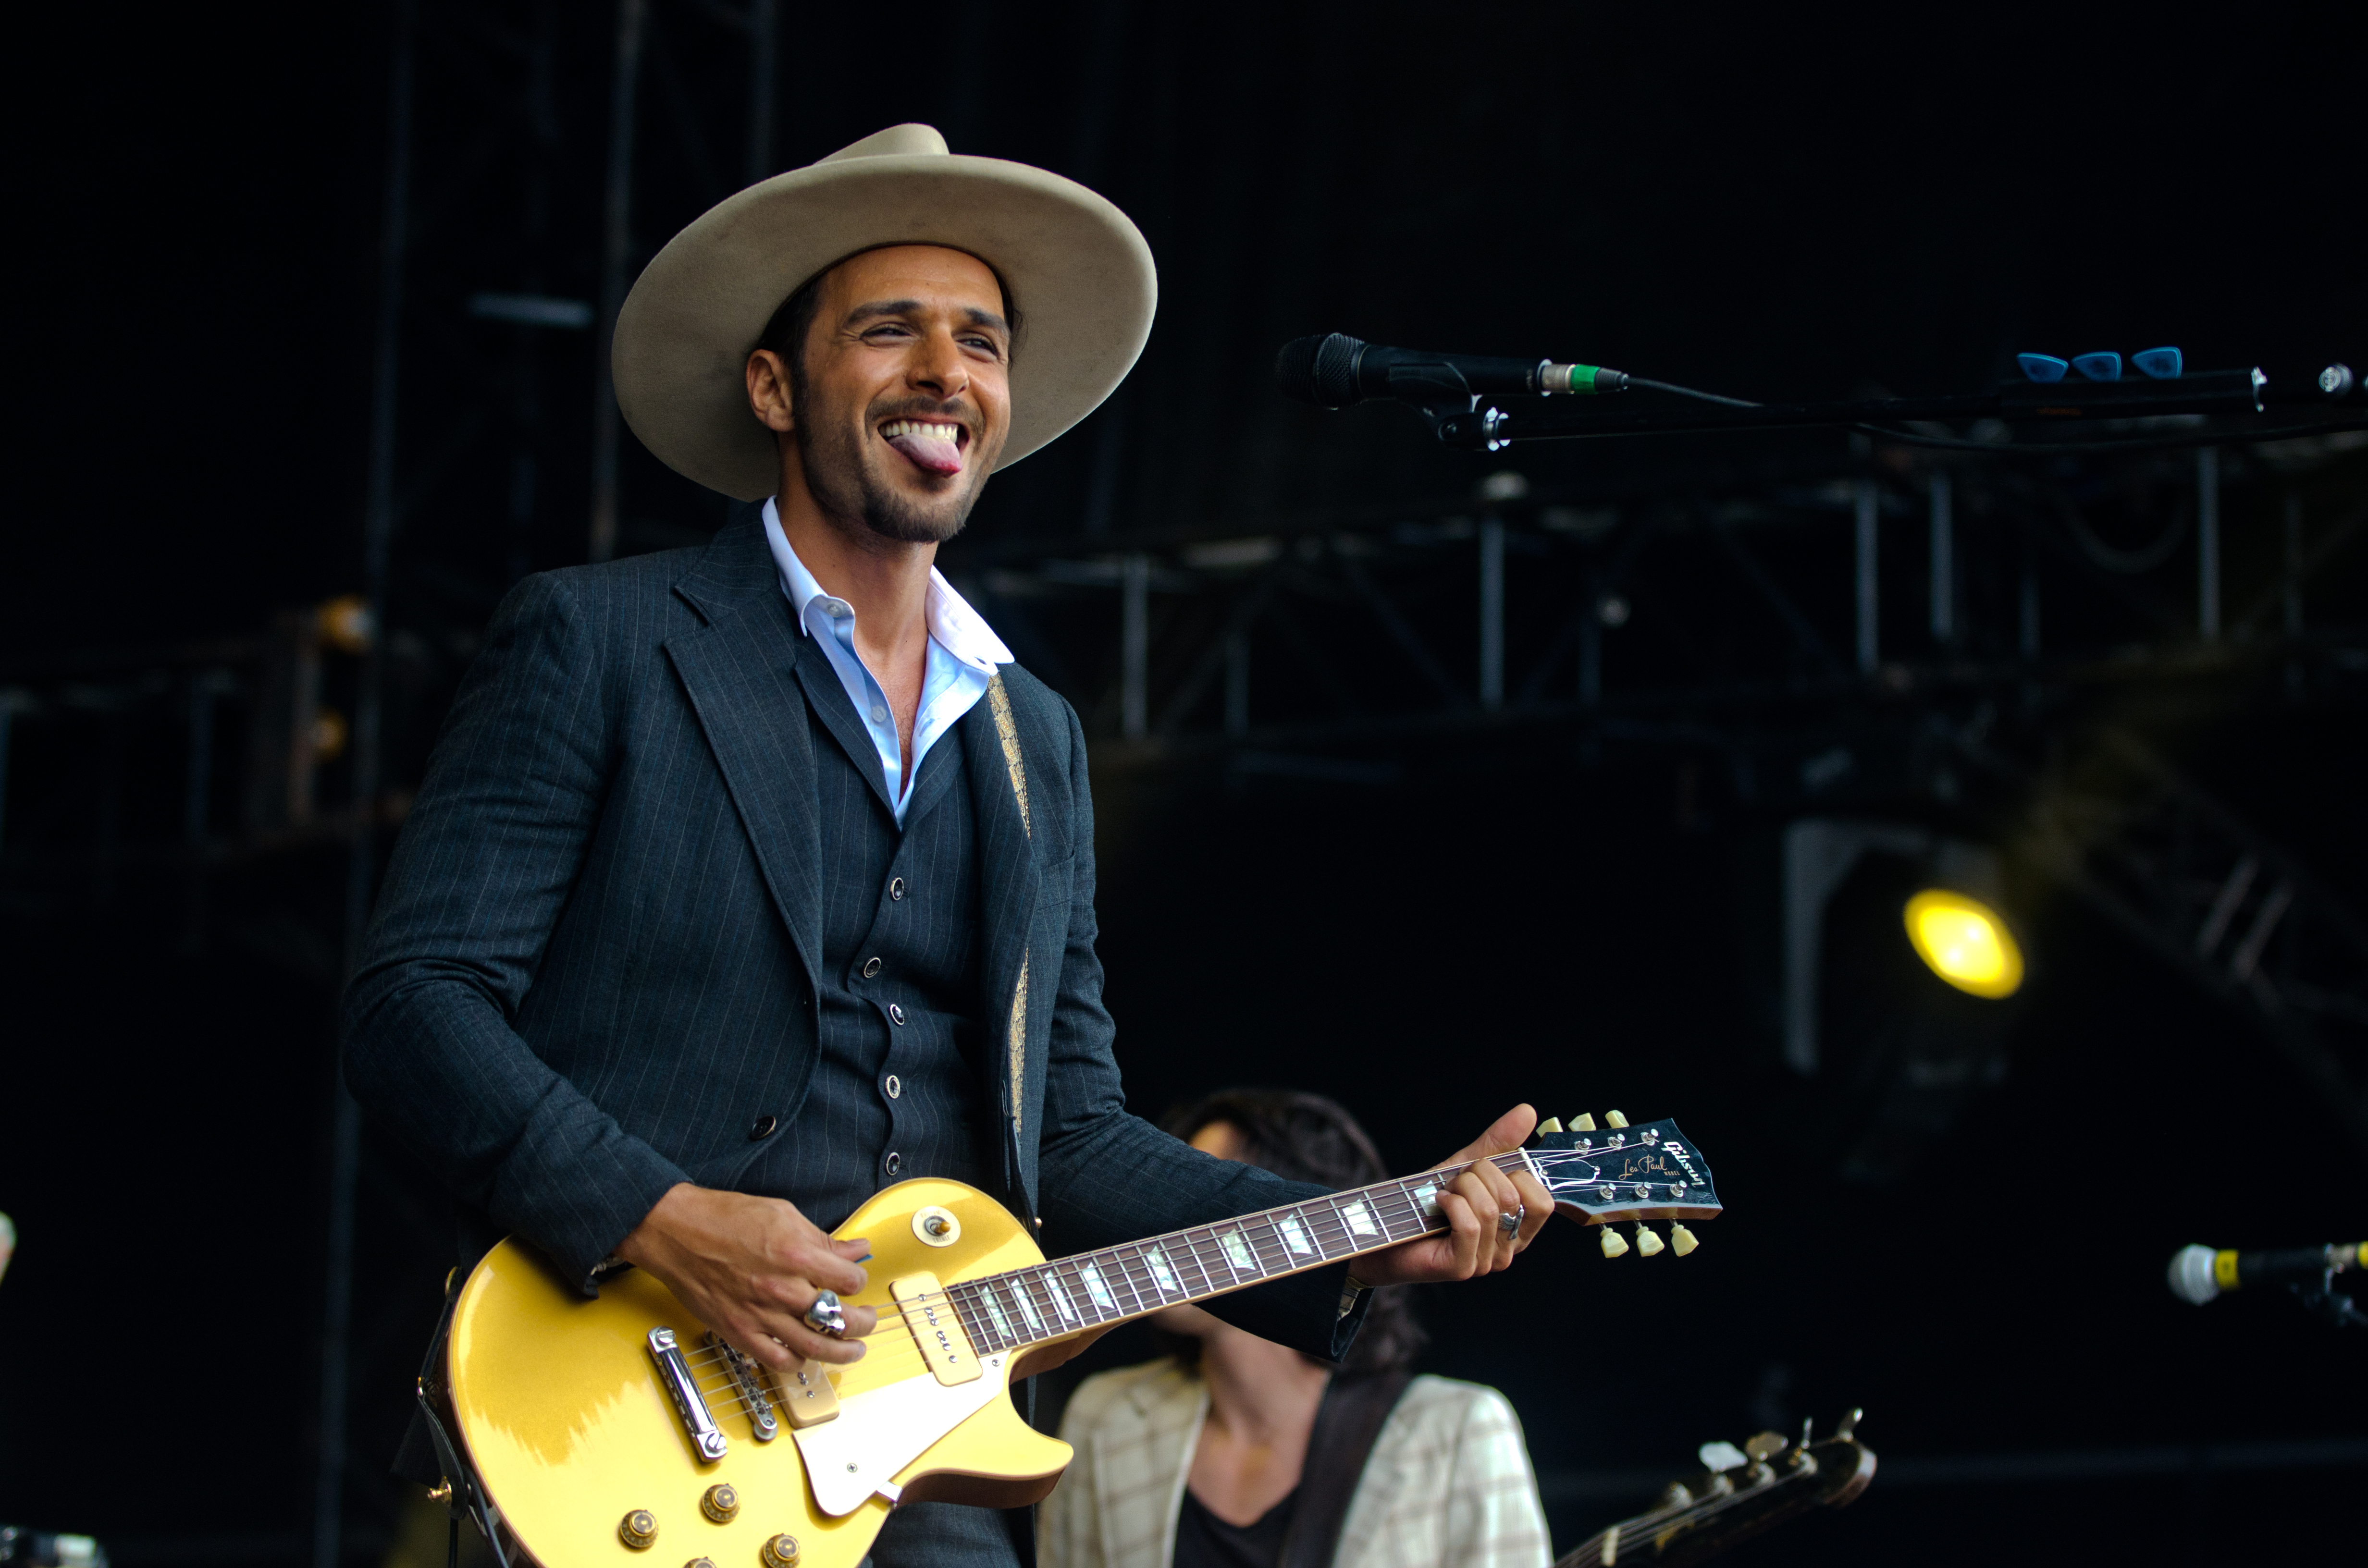
<instances>
[{"instance_id":1,"label":"wide-brimmed beige felt hat on the guitarist's head","mask_svg":"<svg viewBox=\"0 0 2368 1568\"><path fill-rule=\"evenodd\" d=\"M670 469L739 500L779 483L746 362L803 282L883 244L942 244L1011 289L1009 467L1085 419L1151 336L1158 270L1122 211L1075 180L954 156L931 126L890 126L718 201L642 270L616 317L616 403Z\"/></svg>"}]
</instances>

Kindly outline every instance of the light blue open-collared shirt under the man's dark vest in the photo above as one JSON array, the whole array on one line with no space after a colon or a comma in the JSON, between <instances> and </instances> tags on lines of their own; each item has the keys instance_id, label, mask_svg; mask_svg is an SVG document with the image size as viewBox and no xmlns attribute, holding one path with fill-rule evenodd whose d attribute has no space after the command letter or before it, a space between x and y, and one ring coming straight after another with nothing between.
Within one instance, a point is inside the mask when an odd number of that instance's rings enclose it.
<instances>
[{"instance_id":1,"label":"light blue open-collared shirt under the man's dark vest","mask_svg":"<svg viewBox=\"0 0 2368 1568\"><path fill-rule=\"evenodd\" d=\"M812 637L831 661L838 685L848 689L848 701L855 703L855 718L864 722L864 732L881 756L881 777L888 779L895 822L905 827L905 808L912 803L912 782L921 777L921 758L938 744L938 737L952 730L987 694L995 666L1011 663L1011 649L971 609L969 599L957 595L954 585L931 566L928 602L924 606L924 616L928 618L928 668L921 675L921 711L912 720L912 767L907 767L897 751L895 713L888 711L888 694L881 692L881 682L871 677L871 670L855 654L855 606L822 592L822 583L805 568L798 552L789 547L789 535L781 533L781 514L770 500L765 502L765 542L772 547L772 564L781 571L781 592L789 595L789 609L798 618L798 630Z\"/></svg>"}]
</instances>

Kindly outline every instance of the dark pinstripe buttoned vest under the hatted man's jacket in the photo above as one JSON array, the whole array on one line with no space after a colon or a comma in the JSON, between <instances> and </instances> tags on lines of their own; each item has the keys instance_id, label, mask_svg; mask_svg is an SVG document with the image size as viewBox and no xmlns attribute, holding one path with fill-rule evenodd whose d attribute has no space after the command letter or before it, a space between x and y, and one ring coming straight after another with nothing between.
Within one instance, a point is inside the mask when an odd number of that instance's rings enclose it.
<instances>
[{"instance_id":1,"label":"dark pinstripe buttoned vest under the hatted man's jacket","mask_svg":"<svg viewBox=\"0 0 2368 1568\"><path fill-rule=\"evenodd\" d=\"M836 1229L890 1182L931 1175L1002 1189L980 1023L978 817L964 725L921 760L902 831L879 751L845 687L800 649L822 824L817 1059L805 1104L741 1177Z\"/></svg>"}]
</instances>

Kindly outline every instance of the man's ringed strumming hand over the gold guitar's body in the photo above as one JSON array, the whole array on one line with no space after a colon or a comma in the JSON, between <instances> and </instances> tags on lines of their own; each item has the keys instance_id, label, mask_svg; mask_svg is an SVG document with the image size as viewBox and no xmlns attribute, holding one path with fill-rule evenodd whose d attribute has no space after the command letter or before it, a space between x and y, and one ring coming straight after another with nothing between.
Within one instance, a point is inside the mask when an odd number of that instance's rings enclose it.
<instances>
[{"instance_id":1,"label":"man's ringed strumming hand over the gold guitar's body","mask_svg":"<svg viewBox=\"0 0 2368 1568\"><path fill-rule=\"evenodd\" d=\"M817 1291L852 1296L864 1289L867 1277L855 1265L871 1255L871 1244L831 1241L781 1199L677 1182L616 1253L665 1281L727 1345L774 1371L805 1357L860 1360L857 1341L876 1322L871 1307L848 1307L845 1338L805 1324Z\"/></svg>"}]
</instances>

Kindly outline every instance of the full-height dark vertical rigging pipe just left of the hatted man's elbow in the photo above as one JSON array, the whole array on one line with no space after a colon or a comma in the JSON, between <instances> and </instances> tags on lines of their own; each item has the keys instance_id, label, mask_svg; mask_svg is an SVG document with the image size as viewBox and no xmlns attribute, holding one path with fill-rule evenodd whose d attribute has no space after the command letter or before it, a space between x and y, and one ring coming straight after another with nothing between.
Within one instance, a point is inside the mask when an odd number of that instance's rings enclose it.
<instances>
[{"instance_id":1,"label":"full-height dark vertical rigging pipe just left of the hatted man's elbow","mask_svg":"<svg viewBox=\"0 0 2368 1568\"><path fill-rule=\"evenodd\" d=\"M395 0L393 59L386 83L386 192L379 216L379 310L372 334L369 457L362 490L362 602L369 642L353 706L353 803L346 846L346 964L362 952L377 874L379 730L386 689L386 557L395 533L395 396L403 346L403 261L410 251L412 102L419 12ZM332 1030L332 1052L336 1035ZM313 1568L339 1568L346 1532L346 1379L353 1343L353 1187L362 1151L362 1116L332 1068L329 1236L320 1329L320 1473L313 1490Z\"/></svg>"}]
</instances>

